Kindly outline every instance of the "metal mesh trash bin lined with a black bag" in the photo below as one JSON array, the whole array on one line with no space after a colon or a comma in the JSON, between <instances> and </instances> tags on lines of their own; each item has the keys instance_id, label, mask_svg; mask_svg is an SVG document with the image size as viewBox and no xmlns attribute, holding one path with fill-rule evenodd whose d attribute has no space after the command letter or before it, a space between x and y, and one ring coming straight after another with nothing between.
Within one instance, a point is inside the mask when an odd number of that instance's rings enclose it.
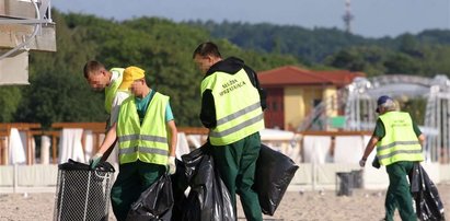
<instances>
[{"instance_id":1,"label":"metal mesh trash bin lined with a black bag","mask_svg":"<svg viewBox=\"0 0 450 221\"><path fill-rule=\"evenodd\" d=\"M107 221L114 167L102 162L95 170L72 160L58 165L55 221Z\"/></svg>"}]
</instances>

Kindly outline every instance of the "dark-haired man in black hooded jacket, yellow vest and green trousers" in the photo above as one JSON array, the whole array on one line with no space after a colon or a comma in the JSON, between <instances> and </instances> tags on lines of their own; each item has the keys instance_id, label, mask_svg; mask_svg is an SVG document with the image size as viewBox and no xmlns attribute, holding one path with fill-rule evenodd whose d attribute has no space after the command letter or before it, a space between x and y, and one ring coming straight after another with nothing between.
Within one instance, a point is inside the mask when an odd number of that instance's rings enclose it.
<instances>
[{"instance_id":1,"label":"dark-haired man in black hooded jacket, yellow vest and green trousers","mask_svg":"<svg viewBox=\"0 0 450 221\"><path fill-rule=\"evenodd\" d=\"M243 60L222 59L218 47L200 44L193 55L205 74L201 81L200 119L209 128L215 166L230 191L235 214L235 194L247 220L263 220L252 186L264 129L264 93L256 73ZM263 98L262 98L263 97Z\"/></svg>"}]
</instances>

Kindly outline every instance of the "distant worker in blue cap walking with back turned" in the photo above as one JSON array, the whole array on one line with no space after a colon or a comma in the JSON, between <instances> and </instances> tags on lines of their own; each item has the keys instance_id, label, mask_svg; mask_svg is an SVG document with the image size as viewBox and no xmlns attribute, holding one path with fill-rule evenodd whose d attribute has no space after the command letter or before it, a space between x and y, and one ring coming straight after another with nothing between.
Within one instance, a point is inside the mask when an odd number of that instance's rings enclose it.
<instances>
[{"instance_id":1,"label":"distant worker in blue cap walking with back turned","mask_svg":"<svg viewBox=\"0 0 450 221\"><path fill-rule=\"evenodd\" d=\"M395 102L390 96L380 96L377 105L380 116L359 165L366 165L367 158L377 147L377 159L386 167L389 175L384 220L393 220L396 207L403 221L417 220L406 176L414 163L424 161L422 144L425 136L408 113L396 111Z\"/></svg>"}]
</instances>

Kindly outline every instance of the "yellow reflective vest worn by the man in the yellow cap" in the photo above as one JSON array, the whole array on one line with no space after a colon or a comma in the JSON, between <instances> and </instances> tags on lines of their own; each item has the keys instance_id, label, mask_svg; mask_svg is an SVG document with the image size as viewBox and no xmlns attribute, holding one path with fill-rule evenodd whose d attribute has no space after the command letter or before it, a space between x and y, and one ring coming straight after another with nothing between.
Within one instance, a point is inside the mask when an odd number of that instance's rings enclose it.
<instances>
[{"instance_id":1,"label":"yellow reflective vest worn by the man in the yellow cap","mask_svg":"<svg viewBox=\"0 0 450 221\"><path fill-rule=\"evenodd\" d=\"M142 125L136 109L135 96L126 98L117 120L119 163L137 160L165 165L169 155L165 108L169 96L155 93L147 108Z\"/></svg>"}]
</instances>

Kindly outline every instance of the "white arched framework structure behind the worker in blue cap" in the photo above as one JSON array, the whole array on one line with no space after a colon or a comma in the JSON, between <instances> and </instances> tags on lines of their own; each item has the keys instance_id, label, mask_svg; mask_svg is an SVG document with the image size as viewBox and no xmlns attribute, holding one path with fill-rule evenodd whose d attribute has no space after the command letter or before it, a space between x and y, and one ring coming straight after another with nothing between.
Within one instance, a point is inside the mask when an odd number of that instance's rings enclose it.
<instances>
[{"instance_id":1,"label":"white arched framework structure behind the worker in blue cap","mask_svg":"<svg viewBox=\"0 0 450 221\"><path fill-rule=\"evenodd\" d=\"M424 147L426 160L450 163L450 80L447 75L424 78L386 74L370 79L356 78L336 97L322 101L299 130L330 129L326 127L332 117L326 115L330 108L341 109L345 118L342 130L373 130L378 118L377 98L381 95L389 95L400 103L424 100L425 109L419 106L413 108L425 113L422 115L424 124L419 127L427 138Z\"/></svg>"}]
</instances>

